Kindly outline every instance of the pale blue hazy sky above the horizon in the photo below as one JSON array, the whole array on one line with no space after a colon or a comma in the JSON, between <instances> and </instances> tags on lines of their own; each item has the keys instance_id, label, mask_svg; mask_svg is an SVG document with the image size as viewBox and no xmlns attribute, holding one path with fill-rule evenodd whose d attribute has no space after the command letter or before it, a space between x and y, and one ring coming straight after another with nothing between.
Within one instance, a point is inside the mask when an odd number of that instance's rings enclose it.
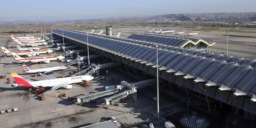
<instances>
[{"instance_id":1,"label":"pale blue hazy sky above the horizon","mask_svg":"<svg viewBox=\"0 0 256 128\"><path fill-rule=\"evenodd\" d=\"M87 20L173 13L256 12L255 0L1 0L0 20Z\"/></svg>"}]
</instances>

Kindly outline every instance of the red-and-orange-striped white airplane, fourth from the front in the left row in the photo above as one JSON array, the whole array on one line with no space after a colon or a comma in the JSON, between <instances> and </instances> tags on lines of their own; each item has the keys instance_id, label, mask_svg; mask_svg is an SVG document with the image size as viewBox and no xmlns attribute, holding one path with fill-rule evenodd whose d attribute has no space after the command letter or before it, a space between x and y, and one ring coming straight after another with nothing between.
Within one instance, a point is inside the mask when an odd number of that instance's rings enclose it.
<instances>
[{"instance_id":1,"label":"red-and-orange-striped white airplane, fourth from the front in the left row","mask_svg":"<svg viewBox=\"0 0 256 128\"><path fill-rule=\"evenodd\" d=\"M3 52L8 55L12 55L12 53L15 53L17 55L27 55L27 54L44 54L44 53L51 53L52 50L44 49L44 50L35 50L35 51L19 51L19 52L10 52L9 50L5 49L4 47L1 47Z\"/></svg>"}]
</instances>

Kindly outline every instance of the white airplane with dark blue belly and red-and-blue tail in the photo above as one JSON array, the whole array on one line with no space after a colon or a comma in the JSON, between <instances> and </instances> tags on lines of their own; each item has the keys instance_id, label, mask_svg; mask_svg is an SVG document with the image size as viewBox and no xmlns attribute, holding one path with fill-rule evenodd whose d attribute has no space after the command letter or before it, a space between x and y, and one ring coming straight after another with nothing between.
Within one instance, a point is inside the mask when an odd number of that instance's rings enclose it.
<instances>
[{"instance_id":1,"label":"white airplane with dark blue belly and red-and-blue tail","mask_svg":"<svg viewBox=\"0 0 256 128\"><path fill-rule=\"evenodd\" d=\"M26 65L22 65L23 67L23 72L24 73L43 73L43 74L52 74L53 71L60 71L60 70L64 70L67 69L66 66L59 66L59 67L51 67L51 68L39 68L39 69L29 69Z\"/></svg>"}]
</instances>

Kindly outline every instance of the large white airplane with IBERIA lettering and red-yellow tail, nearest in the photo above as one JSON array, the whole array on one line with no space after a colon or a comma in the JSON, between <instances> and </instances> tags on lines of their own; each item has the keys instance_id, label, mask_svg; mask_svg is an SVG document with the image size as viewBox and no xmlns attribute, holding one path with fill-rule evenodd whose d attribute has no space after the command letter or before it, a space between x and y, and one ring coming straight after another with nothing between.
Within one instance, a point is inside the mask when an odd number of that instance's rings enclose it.
<instances>
[{"instance_id":1,"label":"large white airplane with IBERIA lettering and red-yellow tail, nearest","mask_svg":"<svg viewBox=\"0 0 256 128\"><path fill-rule=\"evenodd\" d=\"M40 73L41 74L41 73ZM28 87L28 88L33 88L33 87L38 87L38 86L43 86L43 87L52 87L51 90L48 92L53 92L56 89L60 87L64 87L66 89L71 89L72 84L75 83L80 83L83 81L90 81L94 77L89 76L89 75L84 75L84 76L73 76L73 77L64 77L64 78L56 78L53 76L48 76L45 74L41 74L42 76L48 78L48 80L39 80L39 81L31 81L31 80L25 80L22 77L20 77L16 73L11 73L14 81L16 84L13 84L14 87Z\"/></svg>"}]
</instances>

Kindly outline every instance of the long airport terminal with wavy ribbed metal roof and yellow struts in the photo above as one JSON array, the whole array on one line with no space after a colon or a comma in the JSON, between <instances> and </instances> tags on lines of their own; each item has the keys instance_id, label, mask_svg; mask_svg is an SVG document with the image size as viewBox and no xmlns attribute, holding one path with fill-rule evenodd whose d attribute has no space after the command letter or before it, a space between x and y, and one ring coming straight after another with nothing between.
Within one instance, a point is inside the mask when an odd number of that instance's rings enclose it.
<instances>
[{"instance_id":1,"label":"long airport terminal with wavy ribbed metal roof and yellow struts","mask_svg":"<svg viewBox=\"0 0 256 128\"><path fill-rule=\"evenodd\" d=\"M91 53L118 62L120 68L125 67L122 70L136 77L141 71L145 79L145 74L156 76L155 45L158 45L159 77L169 84L171 91L174 86L182 88L188 99L188 92L204 95L202 99L209 110L209 102L214 100L220 107L230 105L234 118L241 115L256 120L254 59L207 52L215 43L190 37L132 34L128 38L116 38L69 29L63 29L63 35L60 29L52 34L85 50L88 42Z\"/></svg>"}]
</instances>

